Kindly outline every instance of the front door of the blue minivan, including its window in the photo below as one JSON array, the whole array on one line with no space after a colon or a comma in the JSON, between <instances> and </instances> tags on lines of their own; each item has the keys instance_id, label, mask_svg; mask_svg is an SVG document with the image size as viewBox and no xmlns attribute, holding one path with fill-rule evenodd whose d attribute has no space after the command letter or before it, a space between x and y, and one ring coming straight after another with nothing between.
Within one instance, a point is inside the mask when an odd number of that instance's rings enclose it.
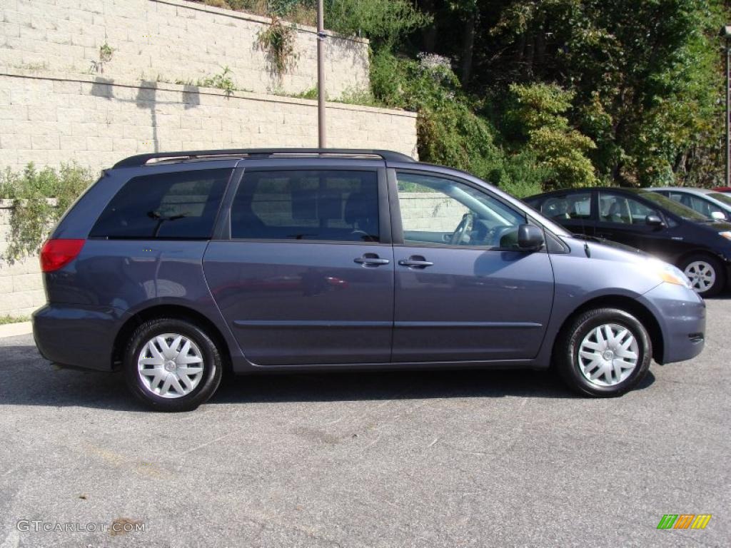
<instances>
[{"instance_id":1,"label":"front door of the blue minivan, including its window","mask_svg":"<svg viewBox=\"0 0 731 548\"><path fill-rule=\"evenodd\" d=\"M403 228L394 230L393 361L535 357L553 270L545 251L518 249L525 214L463 180L413 171L392 179L393 225Z\"/></svg>"}]
</instances>

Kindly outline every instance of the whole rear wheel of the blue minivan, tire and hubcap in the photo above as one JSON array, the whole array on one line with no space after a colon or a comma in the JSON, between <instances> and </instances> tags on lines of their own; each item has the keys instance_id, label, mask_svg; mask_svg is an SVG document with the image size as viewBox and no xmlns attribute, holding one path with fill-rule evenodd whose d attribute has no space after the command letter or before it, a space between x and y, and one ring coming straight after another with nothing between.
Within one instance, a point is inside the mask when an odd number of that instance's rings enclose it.
<instances>
[{"instance_id":1,"label":"whole rear wheel of the blue minivan, tire and hubcap","mask_svg":"<svg viewBox=\"0 0 731 548\"><path fill-rule=\"evenodd\" d=\"M124 354L124 378L132 393L157 411L192 411L221 382L216 344L196 324L175 318L145 321Z\"/></svg>"}]
</instances>

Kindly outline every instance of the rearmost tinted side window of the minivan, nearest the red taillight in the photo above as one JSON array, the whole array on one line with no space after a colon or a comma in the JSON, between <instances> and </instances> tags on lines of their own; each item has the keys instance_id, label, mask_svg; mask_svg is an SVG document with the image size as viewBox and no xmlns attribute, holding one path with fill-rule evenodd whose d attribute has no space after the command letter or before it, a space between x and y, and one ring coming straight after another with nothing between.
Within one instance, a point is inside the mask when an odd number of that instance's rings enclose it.
<instances>
[{"instance_id":1,"label":"rearmost tinted side window of the minivan, nearest the red taillight","mask_svg":"<svg viewBox=\"0 0 731 548\"><path fill-rule=\"evenodd\" d=\"M109 202L89 235L208 239L231 172L195 170L132 178Z\"/></svg>"}]
</instances>

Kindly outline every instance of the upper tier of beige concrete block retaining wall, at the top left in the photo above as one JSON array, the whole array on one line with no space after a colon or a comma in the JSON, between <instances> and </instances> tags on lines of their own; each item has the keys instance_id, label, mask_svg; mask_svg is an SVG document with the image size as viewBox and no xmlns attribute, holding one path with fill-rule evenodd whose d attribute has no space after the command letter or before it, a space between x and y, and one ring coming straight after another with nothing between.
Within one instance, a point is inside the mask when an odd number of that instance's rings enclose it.
<instances>
[{"instance_id":1,"label":"upper tier of beige concrete block retaining wall, at the top left","mask_svg":"<svg viewBox=\"0 0 731 548\"><path fill-rule=\"evenodd\" d=\"M195 83L229 66L236 87L255 93L313 88L316 29L297 28L295 66L280 78L257 42L269 22L186 0L2 0L0 68ZM112 58L99 65L105 44ZM328 33L325 51L328 98L368 88L367 40Z\"/></svg>"}]
</instances>

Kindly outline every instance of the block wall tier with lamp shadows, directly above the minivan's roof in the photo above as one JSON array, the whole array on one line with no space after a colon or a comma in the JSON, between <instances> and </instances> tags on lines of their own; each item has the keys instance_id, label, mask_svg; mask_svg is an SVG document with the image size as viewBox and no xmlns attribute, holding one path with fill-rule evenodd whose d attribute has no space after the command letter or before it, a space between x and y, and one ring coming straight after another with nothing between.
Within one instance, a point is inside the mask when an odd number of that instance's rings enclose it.
<instances>
[{"instance_id":1,"label":"block wall tier with lamp shadows, directly above the minivan's roof","mask_svg":"<svg viewBox=\"0 0 731 548\"><path fill-rule=\"evenodd\" d=\"M327 144L415 156L416 115L327 104ZM94 170L135 153L317 146L317 102L99 76L0 69L0 167Z\"/></svg>"}]
</instances>

